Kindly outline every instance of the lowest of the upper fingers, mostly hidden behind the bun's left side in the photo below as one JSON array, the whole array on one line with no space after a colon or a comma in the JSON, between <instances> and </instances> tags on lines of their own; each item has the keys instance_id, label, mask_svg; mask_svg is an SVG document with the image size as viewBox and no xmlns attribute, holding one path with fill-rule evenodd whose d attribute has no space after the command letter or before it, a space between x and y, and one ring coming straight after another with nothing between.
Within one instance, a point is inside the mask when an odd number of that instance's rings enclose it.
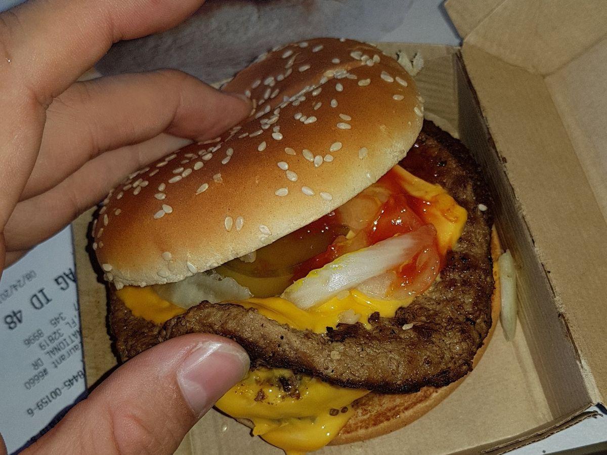
<instances>
[{"instance_id":1,"label":"lowest of the upper fingers, mostly hidden behind the bun's left side","mask_svg":"<svg viewBox=\"0 0 607 455\"><path fill-rule=\"evenodd\" d=\"M4 228L7 251L32 248L46 240L102 200L126 175L189 143L161 134L88 161L55 187L15 206Z\"/></svg>"}]
</instances>

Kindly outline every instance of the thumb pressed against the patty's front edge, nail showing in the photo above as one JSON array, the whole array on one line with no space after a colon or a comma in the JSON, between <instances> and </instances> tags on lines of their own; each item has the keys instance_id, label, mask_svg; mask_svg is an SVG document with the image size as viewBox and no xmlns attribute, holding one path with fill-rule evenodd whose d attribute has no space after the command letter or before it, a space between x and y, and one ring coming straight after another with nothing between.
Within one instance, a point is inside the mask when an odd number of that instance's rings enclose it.
<instances>
[{"instance_id":1,"label":"thumb pressed against the patty's front edge, nail showing","mask_svg":"<svg viewBox=\"0 0 607 455\"><path fill-rule=\"evenodd\" d=\"M173 453L249 369L231 340L189 334L120 366L30 447L40 453Z\"/></svg>"}]
</instances>

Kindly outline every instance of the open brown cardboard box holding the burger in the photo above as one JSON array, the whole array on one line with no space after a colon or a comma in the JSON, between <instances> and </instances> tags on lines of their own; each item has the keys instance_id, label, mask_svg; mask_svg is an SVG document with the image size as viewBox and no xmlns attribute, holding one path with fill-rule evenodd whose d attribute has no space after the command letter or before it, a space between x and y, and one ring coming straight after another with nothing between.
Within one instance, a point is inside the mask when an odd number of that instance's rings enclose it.
<instances>
[{"instance_id":1,"label":"open brown cardboard box holding the burger","mask_svg":"<svg viewBox=\"0 0 607 455\"><path fill-rule=\"evenodd\" d=\"M449 0L464 41L380 43L424 59L426 113L483 167L498 232L517 263L519 325L498 326L481 362L405 428L333 453L504 453L594 416L607 393L607 8L601 1ZM87 383L117 363L106 291L74 223ZM280 453L210 411L177 453Z\"/></svg>"}]
</instances>

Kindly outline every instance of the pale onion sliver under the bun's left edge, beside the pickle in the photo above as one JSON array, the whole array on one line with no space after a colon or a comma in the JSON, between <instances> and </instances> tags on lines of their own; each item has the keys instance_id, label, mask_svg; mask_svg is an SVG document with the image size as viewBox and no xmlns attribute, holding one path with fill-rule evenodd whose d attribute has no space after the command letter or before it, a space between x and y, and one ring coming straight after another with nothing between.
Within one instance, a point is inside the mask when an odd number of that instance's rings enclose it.
<instances>
[{"instance_id":1,"label":"pale onion sliver under the bun's left edge, beside the pickle","mask_svg":"<svg viewBox=\"0 0 607 455\"><path fill-rule=\"evenodd\" d=\"M219 303L245 300L253 296L248 288L240 286L234 278L224 278L217 272L202 272L177 283L155 285L153 288L164 300L186 309L205 300Z\"/></svg>"}]
</instances>

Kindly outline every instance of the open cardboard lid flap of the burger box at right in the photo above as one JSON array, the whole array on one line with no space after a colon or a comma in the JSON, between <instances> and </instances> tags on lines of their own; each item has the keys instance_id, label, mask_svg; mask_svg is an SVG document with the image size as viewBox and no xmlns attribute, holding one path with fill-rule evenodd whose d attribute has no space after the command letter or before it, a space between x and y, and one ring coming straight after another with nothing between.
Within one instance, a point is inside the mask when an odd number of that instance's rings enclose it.
<instances>
[{"instance_id":1,"label":"open cardboard lid flap of the burger box at right","mask_svg":"<svg viewBox=\"0 0 607 455\"><path fill-rule=\"evenodd\" d=\"M470 81L541 261L548 289L536 291L554 299L553 311L525 308L521 318L547 373L544 388L561 411L582 404L577 392L603 402L607 8L566 0L449 0L446 7L464 36ZM554 343L557 332L574 349L582 384L572 386L571 371L557 364L566 349Z\"/></svg>"}]
</instances>

